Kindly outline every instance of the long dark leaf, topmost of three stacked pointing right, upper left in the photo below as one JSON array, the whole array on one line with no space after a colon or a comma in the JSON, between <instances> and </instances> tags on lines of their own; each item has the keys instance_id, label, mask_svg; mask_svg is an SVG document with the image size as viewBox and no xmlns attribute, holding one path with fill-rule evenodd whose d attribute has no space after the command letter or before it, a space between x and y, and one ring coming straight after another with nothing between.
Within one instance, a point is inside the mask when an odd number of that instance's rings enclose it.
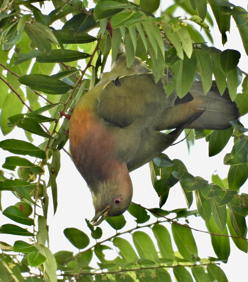
<instances>
[{"instance_id":1,"label":"long dark leaf, topmost of three stacked pointing right, upper left","mask_svg":"<svg viewBox=\"0 0 248 282\"><path fill-rule=\"evenodd\" d=\"M93 37L85 32L69 30L65 28L54 31L54 35L62 44L85 44L97 40L96 37ZM54 50L52 50L52 52L53 51Z\"/></svg>"}]
</instances>

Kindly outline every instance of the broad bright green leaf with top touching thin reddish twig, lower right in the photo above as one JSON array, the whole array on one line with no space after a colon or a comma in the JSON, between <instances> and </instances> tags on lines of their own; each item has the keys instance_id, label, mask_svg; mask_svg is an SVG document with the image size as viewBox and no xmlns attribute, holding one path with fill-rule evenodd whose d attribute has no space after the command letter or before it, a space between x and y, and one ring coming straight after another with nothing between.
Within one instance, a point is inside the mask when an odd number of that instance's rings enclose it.
<instances>
[{"instance_id":1,"label":"broad bright green leaf with top touching thin reddish twig, lower right","mask_svg":"<svg viewBox=\"0 0 248 282\"><path fill-rule=\"evenodd\" d=\"M188 228L188 225L172 224L172 235L182 257L192 261L192 255L197 256L198 251L192 231Z\"/></svg>"}]
</instances>

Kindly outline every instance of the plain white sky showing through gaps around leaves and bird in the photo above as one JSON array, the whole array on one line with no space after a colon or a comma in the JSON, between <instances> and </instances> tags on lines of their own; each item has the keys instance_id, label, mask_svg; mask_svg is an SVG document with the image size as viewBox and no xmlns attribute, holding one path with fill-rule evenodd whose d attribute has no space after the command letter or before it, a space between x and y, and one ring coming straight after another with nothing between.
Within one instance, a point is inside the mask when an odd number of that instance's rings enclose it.
<instances>
[{"instance_id":1,"label":"plain white sky showing through gaps around leaves and bird","mask_svg":"<svg viewBox=\"0 0 248 282\"><path fill-rule=\"evenodd\" d=\"M163 1L162 1L163 2ZM247 1L244 0L236 0L234 1L235 5L242 6L247 9ZM172 3L172 1L164 1L166 6L169 6L168 3ZM182 14L181 16L184 16ZM228 36L228 41L225 46L222 46L221 43L221 36L218 31L217 26L211 30L212 36L214 38L213 46L217 47L218 49L225 50L225 49L238 49L241 52L241 59L239 63L239 67L241 70L248 72L248 60L247 55L244 52L244 48L242 45L242 41L240 39L240 35L238 33L238 29L236 25L231 19L231 31L230 35ZM241 122L244 124L245 127L248 127L248 120L247 117L242 117ZM23 137L21 137L23 136ZM181 140L184 136L182 135L178 140ZM8 138L16 138L16 139L23 139L26 140L26 137L23 135L23 131L21 129L16 128L12 133L7 136L3 136L0 132L0 140L8 139ZM37 138L34 144L39 145L43 142L43 138ZM172 146L166 149L165 153L171 159L178 158L182 160L182 162L186 165L189 173L193 174L194 176L201 176L204 179L207 179L211 182L211 175L216 170L218 175L222 178L227 176L229 166L224 166L223 158L226 152L230 152L233 146L233 139L229 142L229 144L224 149L224 152L219 153L217 156L208 157L208 143L205 139L195 140L195 145L191 147L190 154L188 154L188 149L186 146L186 141L181 142L175 146ZM67 144L68 148L68 144ZM228 148L228 149L227 149ZM1 150L0 151L0 163L3 164L5 161L5 157L10 156L11 154ZM139 203L145 207L152 208L159 206L159 198L155 190L152 187L151 179L150 179L150 169L148 164L145 166L137 169L130 173L132 178L132 183L134 187L134 194L133 194L133 201ZM89 228L85 223L85 218L91 220L94 216L94 208L92 204L91 194L85 184L84 179L80 176L78 171L76 170L74 164L71 162L70 158L61 151L61 169L57 177L57 184L58 184L58 209L55 216L53 216L53 207L52 207L52 197L50 196L50 206L49 206L49 216L48 216L48 224L49 224L49 238L50 238L50 249L53 253L59 250L70 250L74 251L75 253L78 250L69 243L66 237L63 234L63 230L67 227L76 227L87 234L89 233ZM50 188L48 189L48 192ZM240 193L248 192L247 191L247 183L240 189ZM49 194L50 195L50 194ZM10 195L10 192L3 191L2 193L2 206L5 209L7 206L11 204L15 204L18 202L18 199L13 195ZM180 184L176 184L170 190L170 194L166 204L163 206L165 210L173 210L176 208L186 208L186 202L184 199L184 195L181 191ZM192 209L196 209L195 201L191 207ZM123 228L123 230L128 230L135 226L135 222L133 217L128 213L125 212L125 218L127 219L127 224ZM151 216L153 218L153 216ZM155 217L153 221L155 221ZM205 223L203 219L190 217L189 218L189 225L193 228L197 228L200 230L206 230ZM184 221L181 221L184 223ZM4 217L0 214L0 225L12 223L8 218ZM20 225L21 224L17 224ZM25 228L26 226L24 226ZM115 230L112 229L107 222L102 222L100 227L103 228L103 236L100 239L103 240L108 238L111 235L115 234ZM170 230L170 224L166 224L166 228ZM30 228L28 228L30 229ZM31 229L30 229L31 230ZM148 228L141 229L142 231L146 231L150 234ZM195 232L193 231L193 235L195 237L199 256L201 258L207 256L216 257L212 247L211 247L211 240L210 235ZM90 237L90 235L89 235ZM131 235L128 234L125 236L130 242L132 242ZM20 240L26 241L27 238L19 237ZM93 245L95 241L91 239L91 243L89 246ZM0 235L0 241L5 241L6 243L13 244L17 240L17 236L12 235ZM229 257L227 264L221 264L221 268L227 275L229 282L232 281L239 281L240 279L247 277L247 261L248 255L244 252L241 252L236 248L233 244L232 240L230 239L231 243L231 255ZM176 246L173 246L174 250L177 250ZM113 251L114 252L114 251ZM115 255L111 252L105 252L108 255L108 259L113 259ZM170 271L170 273L172 273ZM172 276L173 277L173 276Z\"/></svg>"}]
</instances>

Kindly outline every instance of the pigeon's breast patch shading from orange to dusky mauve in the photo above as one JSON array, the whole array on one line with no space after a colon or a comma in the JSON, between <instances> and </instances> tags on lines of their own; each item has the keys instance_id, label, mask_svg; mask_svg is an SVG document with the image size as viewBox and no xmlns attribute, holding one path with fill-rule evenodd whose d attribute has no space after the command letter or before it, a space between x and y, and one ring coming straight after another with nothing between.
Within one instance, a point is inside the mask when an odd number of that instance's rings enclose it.
<instances>
[{"instance_id":1,"label":"pigeon's breast patch shading from orange to dusky mauve","mask_svg":"<svg viewBox=\"0 0 248 282\"><path fill-rule=\"evenodd\" d=\"M89 186L108 178L116 160L114 135L90 107L75 108L69 127L73 162Z\"/></svg>"}]
</instances>

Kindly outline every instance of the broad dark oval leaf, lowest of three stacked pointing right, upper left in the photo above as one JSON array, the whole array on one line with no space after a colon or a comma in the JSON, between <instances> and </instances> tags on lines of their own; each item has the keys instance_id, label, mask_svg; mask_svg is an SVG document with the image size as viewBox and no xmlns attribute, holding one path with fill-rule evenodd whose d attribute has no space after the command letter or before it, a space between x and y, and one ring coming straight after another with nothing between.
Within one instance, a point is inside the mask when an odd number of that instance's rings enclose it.
<instances>
[{"instance_id":1,"label":"broad dark oval leaf, lowest of three stacked pointing right, upper left","mask_svg":"<svg viewBox=\"0 0 248 282\"><path fill-rule=\"evenodd\" d=\"M64 94L73 87L61 80L44 74L27 74L19 78L20 83L48 94Z\"/></svg>"}]
</instances>

